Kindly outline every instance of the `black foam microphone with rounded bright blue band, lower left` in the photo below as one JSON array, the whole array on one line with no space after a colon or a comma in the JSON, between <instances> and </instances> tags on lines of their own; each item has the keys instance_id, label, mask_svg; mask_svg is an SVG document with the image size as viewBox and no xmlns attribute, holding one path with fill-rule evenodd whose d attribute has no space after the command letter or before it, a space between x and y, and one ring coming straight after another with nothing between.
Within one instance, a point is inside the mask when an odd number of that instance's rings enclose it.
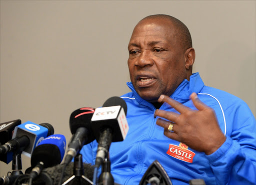
<instances>
[{"instance_id":1,"label":"black foam microphone with rounded bright blue band, lower left","mask_svg":"<svg viewBox=\"0 0 256 185\"><path fill-rule=\"evenodd\" d=\"M53 167L61 163L65 154L66 140L61 134L48 136L33 150L31 155L30 178L34 179L43 168Z\"/></svg>"}]
</instances>

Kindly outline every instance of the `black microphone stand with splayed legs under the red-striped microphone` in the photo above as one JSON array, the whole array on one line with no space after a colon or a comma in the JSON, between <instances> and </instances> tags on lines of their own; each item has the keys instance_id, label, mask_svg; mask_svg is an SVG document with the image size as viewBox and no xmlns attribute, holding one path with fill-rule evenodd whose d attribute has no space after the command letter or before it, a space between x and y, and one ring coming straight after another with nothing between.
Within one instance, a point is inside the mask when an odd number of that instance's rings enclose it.
<instances>
[{"instance_id":1,"label":"black microphone stand with splayed legs under the red-striped microphone","mask_svg":"<svg viewBox=\"0 0 256 185\"><path fill-rule=\"evenodd\" d=\"M86 178L84 175L84 168L83 168L83 163L82 163L82 155L81 154L77 154L74 157L74 167L73 167L73 176L71 176L68 180L66 180L62 185L66 185L67 183L71 183L72 181L78 180L80 185L83 185L84 183L86 183L86 181L88 183L90 183L91 185L93 185L93 183Z\"/></svg>"}]
</instances>

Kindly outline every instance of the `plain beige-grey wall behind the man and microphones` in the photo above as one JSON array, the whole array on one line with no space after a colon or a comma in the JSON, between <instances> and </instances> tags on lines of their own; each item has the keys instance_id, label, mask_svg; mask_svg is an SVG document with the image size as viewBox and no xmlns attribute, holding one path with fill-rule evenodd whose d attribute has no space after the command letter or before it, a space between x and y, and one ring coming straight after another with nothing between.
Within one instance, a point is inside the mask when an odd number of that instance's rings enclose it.
<instances>
[{"instance_id":1,"label":"plain beige-grey wall behind the man and microphones","mask_svg":"<svg viewBox=\"0 0 256 185\"><path fill-rule=\"evenodd\" d=\"M0 123L50 123L69 141L70 114L130 91L135 24L169 14L190 30L205 85L256 112L255 0L0 0ZM255 134L255 133L252 133ZM23 171L30 159L22 156ZM0 176L11 163L0 163Z\"/></svg>"}]
</instances>

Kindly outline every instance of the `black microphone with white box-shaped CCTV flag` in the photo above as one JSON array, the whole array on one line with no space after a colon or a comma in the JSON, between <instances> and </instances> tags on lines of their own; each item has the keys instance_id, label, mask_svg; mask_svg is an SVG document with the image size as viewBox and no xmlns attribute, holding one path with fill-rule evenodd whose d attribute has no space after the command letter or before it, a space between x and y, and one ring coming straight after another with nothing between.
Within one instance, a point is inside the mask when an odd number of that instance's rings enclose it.
<instances>
[{"instance_id":1,"label":"black microphone with white box-shaped CCTV flag","mask_svg":"<svg viewBox=\"0 0 256 185\"><path fill-rule=\"evenodd\" d=\"M95 109L91 127L98 142L95 167L99 168L108 153L111 142L123 141L128 132L127 106L123 99L114 96Z\"/></svg>"}]
</instances>

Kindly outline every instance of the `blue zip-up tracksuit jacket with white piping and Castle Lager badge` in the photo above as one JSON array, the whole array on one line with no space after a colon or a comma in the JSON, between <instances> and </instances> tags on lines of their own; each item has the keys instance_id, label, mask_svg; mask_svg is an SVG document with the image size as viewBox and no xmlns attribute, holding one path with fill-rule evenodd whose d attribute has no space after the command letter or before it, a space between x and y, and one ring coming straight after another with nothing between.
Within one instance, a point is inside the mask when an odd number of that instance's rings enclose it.
<instances>
[{"instance_id":1,"label":"blue zip-up tracksuit jacket with white piping and Castle Lager badge","mask_svg":"<svg viewBox=\"0 0 256 185\"><path fill-rule=\"evenodd\" d=\"M155 124L155 107L138 96L131 82L127 85L132 92L121 97L127 104L129 131L124 141L112 143L109 149L115 183L138 185L150 164L158 160L173 185L188 185L191 179L203 179L206 185L256 184L256 123L245 102L204 86L198 73L192 74L189 81L184 80L170 96L195 109L189 100L195 92L214 109L226 141L206 156L165 137L163 128ZM176 112L167 104L160 109ZM80 151L84 162L94 164L96 150L96 141L84 146Z\"/></svg>"}]
</instances>

